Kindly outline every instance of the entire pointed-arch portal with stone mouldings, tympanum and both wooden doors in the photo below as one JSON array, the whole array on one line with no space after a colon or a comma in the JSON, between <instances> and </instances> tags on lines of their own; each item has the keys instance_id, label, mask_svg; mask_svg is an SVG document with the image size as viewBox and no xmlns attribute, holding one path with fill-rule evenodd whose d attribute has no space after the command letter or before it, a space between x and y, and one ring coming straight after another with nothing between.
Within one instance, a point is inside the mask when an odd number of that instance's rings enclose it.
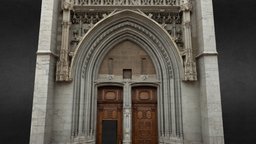
<instances>
[{"instance_id":1,"label":"entire pointed-arch portal with stone mouldings, tympanum and both wooden doors","mask_svg":"<svg viewBox=\"0 0 256 144\"><path fill-rule=\"evenodd\" d=\"M115 15L96 26L100 29L93 28L76 51L71 66L76 100L73 136L81 139L82 133L87 143L100 144L105 141L104 130L109 128L106 125L117 133L111 136L113 143L120 140L122 144L170 143L172 136L182 142L180 75L183 69L177 48L148 17L129 10ZM114 92L104 94L112 88L119 89L120 99L115 99L118 96ZM142 89L150 91L149 94ZM143 91L137 95L139 100L132 94L135 91ZM151 99L146 100L147 97ZM107 112L114 109L115 112ZM135 131L136 123L151 125ZM146 135L143 139L135 137L139 130L150 133L150 139Z\"/></svg>"}]
</instances>

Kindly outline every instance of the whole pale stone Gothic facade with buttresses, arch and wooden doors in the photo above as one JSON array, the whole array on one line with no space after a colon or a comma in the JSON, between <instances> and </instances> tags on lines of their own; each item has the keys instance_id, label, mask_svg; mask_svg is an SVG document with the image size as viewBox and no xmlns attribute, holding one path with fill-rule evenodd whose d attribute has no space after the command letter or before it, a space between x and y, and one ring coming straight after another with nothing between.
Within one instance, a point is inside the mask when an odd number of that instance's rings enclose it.
<instances>
[{"instance_id":1,"label":"whole pale stone Gothic facade with buttresses, arch and wooden doors","mask_svg":"<svg viewBox=\"0 0 256 144\"><path fill-rule=\"evenodd\" d=\"M224 144L211 0L44 0L31 144Z\"/></svg>"}]
</instances>

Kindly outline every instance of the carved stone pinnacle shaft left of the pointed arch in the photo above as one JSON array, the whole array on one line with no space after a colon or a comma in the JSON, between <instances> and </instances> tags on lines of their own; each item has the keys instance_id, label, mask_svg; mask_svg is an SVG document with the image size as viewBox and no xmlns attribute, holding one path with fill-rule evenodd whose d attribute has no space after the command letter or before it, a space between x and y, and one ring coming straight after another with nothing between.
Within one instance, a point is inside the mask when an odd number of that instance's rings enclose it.
<instances>
[{"instance_id":1,"label":"carved stone pinnacle shaft left of the pointed arch","mask_svg":"<svg viewBox=\"0 0 256 144\"><path fill-rule=\"evenodd\" d=\"M62 2L62 36L59 59L56 65L56 81L70 81L70 60L69 60L69 30L70 30L70 12L73 5L67 1Z\"/></svg>"}]
</instances>

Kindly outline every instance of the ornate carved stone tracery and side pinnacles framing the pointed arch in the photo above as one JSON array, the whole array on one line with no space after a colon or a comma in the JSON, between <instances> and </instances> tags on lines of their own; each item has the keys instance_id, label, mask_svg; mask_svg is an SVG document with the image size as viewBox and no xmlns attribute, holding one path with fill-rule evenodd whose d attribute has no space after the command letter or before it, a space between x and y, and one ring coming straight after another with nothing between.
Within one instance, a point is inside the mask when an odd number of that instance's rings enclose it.
<instances>
[{"instance_id":1,"label":"ornate carved stone tracery and side pinnacles framing the pointed arch","mask_svg":"<svg viewBox=\"0 0 256 144\"><path fill-rule=\"evenodd\" d=\"M79 45L82 43L82 39L97 24L115 15L115 13L122 11L122 9L127 8L136 9L141 15L158 23L159 27L169 34L170 39L175 42L175 47L179 49L180 56L183 58L183 80L197 80L196 64L191 41L191 2L189 0L152 0L152 2L148 2L146 3L143 0L64 1L62 41L59 60L57 62L56 81L72 80L70 66L75 56L75 51L77 51ZM162 7L164 5L165 7ZM110 8L102 10L103 6L110 6ZM93 11L90 11L92 8Z\"/></svg>"}]
</instances>

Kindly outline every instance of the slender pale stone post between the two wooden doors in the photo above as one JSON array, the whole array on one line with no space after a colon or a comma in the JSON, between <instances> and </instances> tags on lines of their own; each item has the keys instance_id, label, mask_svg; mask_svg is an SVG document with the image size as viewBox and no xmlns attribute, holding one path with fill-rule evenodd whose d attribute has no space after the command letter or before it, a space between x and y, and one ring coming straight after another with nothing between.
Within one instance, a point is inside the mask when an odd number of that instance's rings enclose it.
<instances>
[{"instance_id":1,"label":"slender pale stone post between the two wooden doors","mask_svg":"<svg viewBox=\"0 0 256 144\"><path fill-rule=\"evenodd\" d=\"M130 82L124 83L123 94L123 144L131 144L132 136L132 102L131 102L131 85Z\"/></svg>"}]
</instances>

